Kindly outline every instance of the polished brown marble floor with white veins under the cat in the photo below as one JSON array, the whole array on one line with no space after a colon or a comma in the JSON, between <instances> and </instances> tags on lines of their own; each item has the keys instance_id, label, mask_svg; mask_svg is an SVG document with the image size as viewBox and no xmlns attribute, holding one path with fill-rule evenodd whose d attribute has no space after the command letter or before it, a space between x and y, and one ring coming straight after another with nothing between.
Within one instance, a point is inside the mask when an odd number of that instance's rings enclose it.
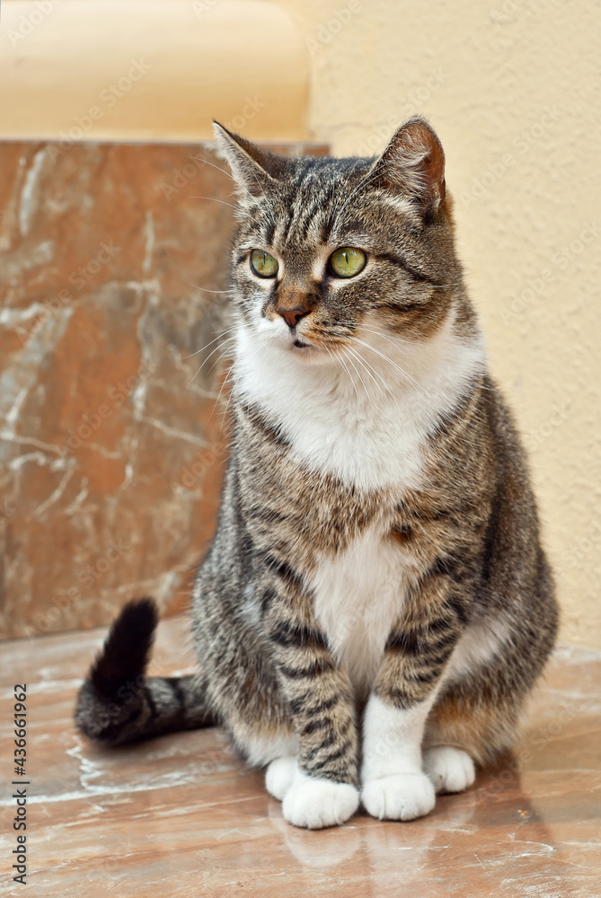
<instances>
[{"instance_id":1,"label":"polished brown marble floor with white veins under the cat","mask_svg":"<svg viewBox=\"0 0 601 898\"><path fill-rule=\"evenodd\" d=\"M219 729L103 751L75 692L104 630L0 644L0 894L35 898L598 898L601 653L557 650L513 759L412 823L285 823L261 772ZM193 664L185 619L159 628L151 673ZM13 684L28 683L28 876L13 884Z\"/></svg>"}]
</instances>

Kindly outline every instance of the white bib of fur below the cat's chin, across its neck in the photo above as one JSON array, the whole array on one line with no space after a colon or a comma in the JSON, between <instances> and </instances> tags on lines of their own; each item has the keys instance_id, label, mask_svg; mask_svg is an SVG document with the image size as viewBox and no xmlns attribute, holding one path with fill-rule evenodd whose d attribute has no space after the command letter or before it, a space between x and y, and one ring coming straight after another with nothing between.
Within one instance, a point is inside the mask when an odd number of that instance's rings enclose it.
<instances>
[{"instance_id":1,"label":"white bib of fur below the cat's chin, across its neck","mask_svg":"<svg viewBox=\"0 0 601 898\"><path fill-rule=\"evenodd\" d=\"M480 340L460 339L450 315L425 343L397 346L367 330L363 366L356 347L344 362L340 350L338 361L313 365L282 348L273 322L258 327L238 332L237 389L278 424L299 461L359 489L419 489L429 434L482 368Z\"/></svg>"}]
</instances>

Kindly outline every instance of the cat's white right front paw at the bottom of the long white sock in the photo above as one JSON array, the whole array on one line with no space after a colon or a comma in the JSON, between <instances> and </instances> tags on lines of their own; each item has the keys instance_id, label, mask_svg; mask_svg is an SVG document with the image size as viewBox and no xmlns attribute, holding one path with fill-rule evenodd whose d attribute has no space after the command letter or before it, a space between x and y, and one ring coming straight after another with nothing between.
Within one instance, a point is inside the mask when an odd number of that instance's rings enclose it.
<instances>
[{"instance_id":1,"label":"cat's white right front paw at the bottom of the long white sock","mask_svg":"<svg viewBox=\"0 0 601 898\"><path fill-rule=\"evenodd\" d=\"M379 820L414 820L432 810L436 795L428 777L416 770L367 780L361 801L367 814Z\"/></svg>"}]
</instances>

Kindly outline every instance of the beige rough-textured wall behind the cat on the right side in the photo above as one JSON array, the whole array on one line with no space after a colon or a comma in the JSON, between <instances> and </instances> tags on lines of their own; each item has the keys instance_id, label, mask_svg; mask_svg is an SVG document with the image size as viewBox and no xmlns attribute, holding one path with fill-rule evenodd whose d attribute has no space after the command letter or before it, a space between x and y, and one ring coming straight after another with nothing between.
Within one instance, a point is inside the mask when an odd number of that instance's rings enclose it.
<instances>
[{"instance_id":1,"label":"beige rough-textured wall behind the cat on the right side","mask_svg":"<svg viewBox=\"0 0 601 898\"><path fill-rule=\"evenodd\" d=\"M530 450L563 640L601 647L601 8L586 0L280 0L305 33L310 126L375 152L414 112L447 154L491 367Z\"/></svg>"}]
</instances>

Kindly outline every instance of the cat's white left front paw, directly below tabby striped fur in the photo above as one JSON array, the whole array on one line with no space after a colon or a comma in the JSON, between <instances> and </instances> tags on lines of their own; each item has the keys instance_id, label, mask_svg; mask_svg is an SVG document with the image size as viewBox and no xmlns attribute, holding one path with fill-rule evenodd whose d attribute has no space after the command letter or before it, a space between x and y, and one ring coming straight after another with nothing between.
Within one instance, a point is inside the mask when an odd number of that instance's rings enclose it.
<instances>
[{"instance_id":1,"label":"cat's white left front paw, directly below tabby striped fur","mask_svg":"<svg viewBox=\"0 0 601 898\"><path fill-rule=\"evenodd\" d=\"M295 776L282 802L282 813L288 823L308 830L338 826L355 813L359 806L358 790L349 783L309 777L296 768Z\"/></svg>"}]
</instances>

